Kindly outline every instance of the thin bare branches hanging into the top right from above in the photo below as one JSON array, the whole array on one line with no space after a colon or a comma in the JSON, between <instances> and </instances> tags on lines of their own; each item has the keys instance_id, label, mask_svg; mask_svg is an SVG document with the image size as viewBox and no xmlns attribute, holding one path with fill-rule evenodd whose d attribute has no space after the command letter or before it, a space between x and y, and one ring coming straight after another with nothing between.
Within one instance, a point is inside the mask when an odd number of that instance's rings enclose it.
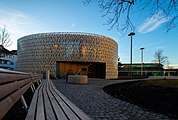
<instances>
[{"instance_id":1,"label":"thin bare branches hanging into the top right from above","mask_svg":"<svg viewBox=\"0 0 178 120\"><path fill-rule=\"evenodd\" d=\"M178 0L84 0L84 4L88 5L92 1L98 3L103 17L109 16L107 24L110 25L110 29L116 27L122 33L128 29L134 31L131 15L145 9L149 9L150 18L161 11L162 18L169 19L167 31L178 25Z\"/></svg>"}]
</instances>

